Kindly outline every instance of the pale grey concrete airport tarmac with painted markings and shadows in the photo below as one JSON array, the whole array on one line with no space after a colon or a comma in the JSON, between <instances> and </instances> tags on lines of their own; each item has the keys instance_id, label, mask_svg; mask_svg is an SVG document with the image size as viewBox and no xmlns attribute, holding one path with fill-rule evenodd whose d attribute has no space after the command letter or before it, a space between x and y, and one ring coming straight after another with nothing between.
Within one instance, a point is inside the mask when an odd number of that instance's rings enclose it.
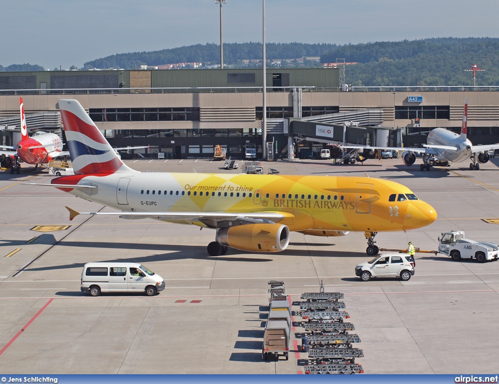
<instances>
[{"instance_id":1,"label":"pale grey concrete airport tarmac with painted markings and shadows","mask_svg":"<svg viewBox=\"0 0 499 384\"><path fill-rule=\"evenodd\" d=\"M418 160L420 161L420 160ZM223 172L210 160L129 160L138 171ZM379 247L437 249L443 231L499 242L499 159L419 171L400 159L336 165L333 161L262 163L281 174L365 176L409 187L436 208L430 226L379 233ZM0 174L0 372L3 374L298 374L305 353L295 333L289 360L261 357L269 280L303 292L345 293L345 311L361 339L356 359L366 374L497 374L499 262L456 262L416 254L409 281L362 282L355 265L369 260L363 233L312 237L291 233L284 252L230 249L209 256L215 231L154 220L78 216L112 210L50 187L44 173ZM495 219L489 222L485 219ZM497 223L496 223L497 222ZM37 227L41 226L41 227ZM41 231L40 231L41 230ZM83 265L135 261L160 274L154 297L80 292ZM296 311L298 307L293 307ZM295 316L294 320L301 318Z\"/></svg>"}]
</instances>

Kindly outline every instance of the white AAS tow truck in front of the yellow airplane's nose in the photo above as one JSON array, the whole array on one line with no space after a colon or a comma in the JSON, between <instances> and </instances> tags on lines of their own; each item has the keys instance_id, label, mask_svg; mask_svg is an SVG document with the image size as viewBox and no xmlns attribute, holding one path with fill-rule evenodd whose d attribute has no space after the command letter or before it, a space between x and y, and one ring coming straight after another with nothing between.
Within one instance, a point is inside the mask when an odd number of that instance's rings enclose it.
<instances>
[{"instance_id":1,"label":"white AAS tow truck in front of the yellow airplane's nose","mask_svg":"<svg viewBox=\"0 0 499 384\"><path fill-rule=\"evenodd\" d=\"M453 260L475 259L479 263L499 258L499 244L465 239L465 232L450 231L439 237L439 253L451 256Z\"/></svg>"}]
</instances>

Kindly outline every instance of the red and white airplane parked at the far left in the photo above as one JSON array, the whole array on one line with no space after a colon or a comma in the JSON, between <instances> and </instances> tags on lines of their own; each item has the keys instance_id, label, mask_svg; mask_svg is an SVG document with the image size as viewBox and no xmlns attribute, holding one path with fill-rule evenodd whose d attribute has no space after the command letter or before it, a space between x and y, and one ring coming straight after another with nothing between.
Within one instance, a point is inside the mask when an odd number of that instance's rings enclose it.
<instances>
[{"instance_id":1,"label":"red and white airplane parked at the far left","mask_svg":"<svg viewBox=\"0 0 499 384\"><path fill-rule=\"evenodd\" d=\"M10 173L20 173L20 166L16 159L19 157L24 163L38 166L38 164L48 164L52 159L67 156L68 152L62 151L62 140L53 133L37 132L29 137L26 129L26 119L24 118L24 104L22 97L19 97L19 113L21 118L21 141L16 147L1 146L15 151L0 150L0 154L6 155L1 160L3 168L10 168Z\"/></svg>"}]
</instances>

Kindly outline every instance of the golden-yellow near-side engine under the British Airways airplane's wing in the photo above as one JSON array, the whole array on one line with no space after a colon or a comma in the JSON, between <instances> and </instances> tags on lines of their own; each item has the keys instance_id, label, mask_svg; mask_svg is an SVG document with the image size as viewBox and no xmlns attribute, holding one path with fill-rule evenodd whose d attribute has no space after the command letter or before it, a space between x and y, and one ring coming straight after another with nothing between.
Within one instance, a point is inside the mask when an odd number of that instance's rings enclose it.
<instances>
[{"instance_id":1,"label":"golden-yellow near-side engine under the British Airways airplane's wing","mask_svg":"<svg viewBox=\"0 0 499 384\"><path fill-rule=\"evenodd\" d=\"M219 244L243 251L280 252L289 244L289 228L282 224L244 224L217 232Z\"/></svg>"}]
</instances>

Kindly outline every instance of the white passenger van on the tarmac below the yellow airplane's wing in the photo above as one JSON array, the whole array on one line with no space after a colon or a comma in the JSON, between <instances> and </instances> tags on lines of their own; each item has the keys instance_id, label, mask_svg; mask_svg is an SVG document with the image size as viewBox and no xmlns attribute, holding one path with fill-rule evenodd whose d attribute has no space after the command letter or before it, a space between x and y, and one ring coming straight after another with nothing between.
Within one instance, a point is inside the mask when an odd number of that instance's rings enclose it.
<instances>
[{"instance_id":1,"label":"white passenger van on the tarmac below the yellow airplane's wing","mask_svg":"<svg viewBox=\"0 0 499 384\"><path fill-rule=\"evenodd\" d=\"M165 281L139 263L86 263L81 272L82 292L145 292L154 296L165 289Z\"/></svg>"}]
</instances>

